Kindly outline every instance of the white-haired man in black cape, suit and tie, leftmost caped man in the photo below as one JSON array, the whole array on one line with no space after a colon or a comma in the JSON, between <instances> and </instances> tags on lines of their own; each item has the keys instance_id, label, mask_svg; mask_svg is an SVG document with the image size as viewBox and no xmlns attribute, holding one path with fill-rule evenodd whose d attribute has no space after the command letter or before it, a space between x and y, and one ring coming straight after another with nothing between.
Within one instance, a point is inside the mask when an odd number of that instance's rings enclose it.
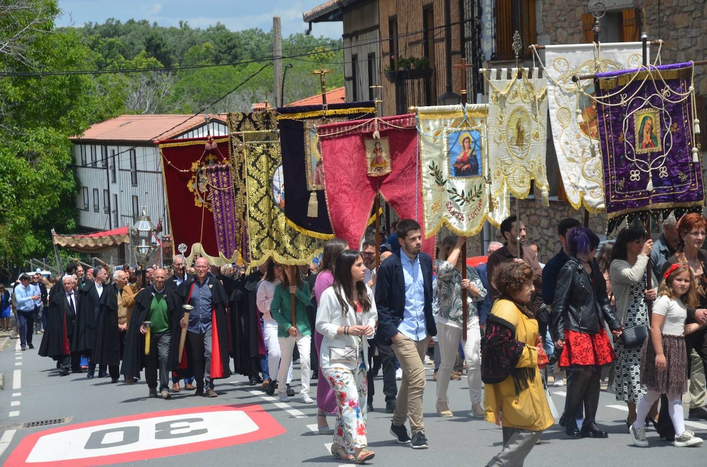
<instances>
[{"instance_id":1,"label":"white-haired man in black cape, suit and tie, leftmost caped man","mask_svg":"<svg viewBox=\"0 0 707 467\"><path fill-rule=\"evenodd\" d=\"M61 291L59 291L61 290ZM74 293L74 277L62 277L62 287L49 299L47 308L47 329L42 335L39 355L51 357L59 362L59 375L81 372L81 353L72 352L72 338L75 336L76 310L80 307L79 298Z\"/></svg>"}]
</instances>

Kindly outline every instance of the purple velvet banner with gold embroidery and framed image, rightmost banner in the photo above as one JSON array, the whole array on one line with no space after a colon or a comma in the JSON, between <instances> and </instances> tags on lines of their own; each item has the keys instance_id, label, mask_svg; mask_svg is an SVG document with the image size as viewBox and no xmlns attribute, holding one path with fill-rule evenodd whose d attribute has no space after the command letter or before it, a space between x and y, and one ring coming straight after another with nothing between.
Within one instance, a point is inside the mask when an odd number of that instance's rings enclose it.
<instances>
[{"instance_id":1,"label":"purple velvet banner with gold embroidery and framed image, rightmost banner","mask_svg":"<svg viewBox=\"0 0 707 467\"><path fill-rule=\"evenodd\" d=\"M692 63L598 73L609 231L636 212L679 217L704 205ZM644 219L645 220L645 219Z\"/></svg>"}]
</instances>

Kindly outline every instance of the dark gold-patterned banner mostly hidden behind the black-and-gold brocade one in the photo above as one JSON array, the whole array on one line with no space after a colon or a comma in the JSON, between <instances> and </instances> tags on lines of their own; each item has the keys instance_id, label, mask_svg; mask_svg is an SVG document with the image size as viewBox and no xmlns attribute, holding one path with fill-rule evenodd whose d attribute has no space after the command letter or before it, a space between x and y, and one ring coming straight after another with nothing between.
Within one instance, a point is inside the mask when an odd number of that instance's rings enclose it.
<instances>
[{"instance_id":1,"label":"dark gold-patterned banner mostly hidden behind the black-and-gold brocade one","mask_svg":"<svg viewBox=\"0 0 707 467\"><path fill-rule=\"evenodd\" d=\"M233 168L233 196L235 201L234 220L236 249L240 252L241 259L250 264L250 238L247 229L247 193L245 190L245 146L243 138L237 135L243 131L265 131L275 128L275 114L272 111L264 112L233 112L229 113L228 133L230 142L228 152Z\"/></svg>"}]
</instances>

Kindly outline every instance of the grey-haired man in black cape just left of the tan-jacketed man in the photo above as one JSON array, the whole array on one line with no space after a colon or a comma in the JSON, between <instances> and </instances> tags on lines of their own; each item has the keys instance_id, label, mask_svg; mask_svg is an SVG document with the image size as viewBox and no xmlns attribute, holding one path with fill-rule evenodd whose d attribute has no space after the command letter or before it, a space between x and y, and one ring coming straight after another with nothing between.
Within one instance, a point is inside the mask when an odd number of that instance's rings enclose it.
<instances>
[{"instance_id":1,"label":"grey-haired man in black cape just left of the tan-jacketed man","mask_svg":"<svg viewBox=\"0 0 707 467\"><path fill-rule=\"evenodd\" d=\"M107 365L110 382L117 383L120 376L120 330L118 328L118 308L120 294L128 283L127 273L118 270L113 273L114 284L106 286L100 297L98 326L93 357L98 365Z\"/></svg>"}]
</instances>

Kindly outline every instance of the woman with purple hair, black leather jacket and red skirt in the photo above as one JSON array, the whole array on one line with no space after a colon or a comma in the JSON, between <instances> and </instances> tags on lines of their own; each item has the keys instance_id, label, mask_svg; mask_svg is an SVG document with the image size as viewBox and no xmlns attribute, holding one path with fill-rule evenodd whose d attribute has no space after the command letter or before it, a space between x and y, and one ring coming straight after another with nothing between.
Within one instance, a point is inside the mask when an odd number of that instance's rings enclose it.
<instances>
[{"instance_id":1,"label":"woman with purple hair, black leather jacket and red skirt","mask_svg":"<svg viewBox=\"0 0 707 467\"><path fill-rule=\"evenodd\" d=\"M621 325L595 260L599 237L590 229L577 227L568 243L571 257L557 277L552 303L553 339L561 350L559 365L567 372L565 432L571 438L605 438L607 432L595 422L602 366L614 360L604 321L612 334L621 334ZM580 404L585 409L581 430L574 418Z\"/></svg>"}]
</instances>

